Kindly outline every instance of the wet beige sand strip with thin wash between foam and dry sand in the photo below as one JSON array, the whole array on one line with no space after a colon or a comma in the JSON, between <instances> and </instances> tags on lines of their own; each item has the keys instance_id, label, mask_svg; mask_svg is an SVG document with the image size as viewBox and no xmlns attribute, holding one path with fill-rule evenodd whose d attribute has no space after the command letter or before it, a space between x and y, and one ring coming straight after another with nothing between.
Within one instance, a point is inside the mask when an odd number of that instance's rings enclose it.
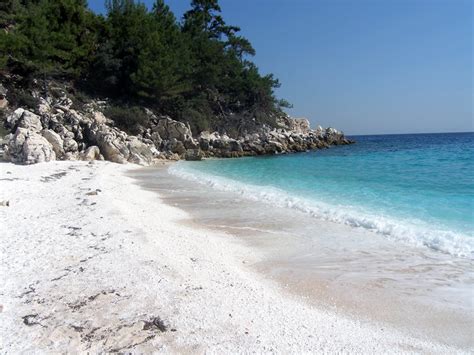
<instances>
[{"instance_id":1,"label":"wet beige sand strip with thin wash between foam and dry sand","mask_svg":"<svg viewBox=\"0 0 474 355\"><path fill-rule=\"evenodd\" d=\"M463 349L474 346L470 258L216 190L166 168L133 176L189 212L184 223L225 231L258 248L265 257L252 266L307 302Z\"/></svg>"}]
</instances>

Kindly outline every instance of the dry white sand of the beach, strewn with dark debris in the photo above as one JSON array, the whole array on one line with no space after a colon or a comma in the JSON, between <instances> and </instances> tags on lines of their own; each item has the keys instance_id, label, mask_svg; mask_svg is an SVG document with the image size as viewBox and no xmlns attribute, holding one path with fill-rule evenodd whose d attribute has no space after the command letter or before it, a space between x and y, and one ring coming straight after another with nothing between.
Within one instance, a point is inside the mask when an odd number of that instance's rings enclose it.
<instances>
[{"instance_id":1,"label":"dry white sand of the beach, strewn with dark debris","mask_svg":"<svg viewBox=\"0 0 474 355\"><path fill-rule=\"evenodd\" d=\"M289 296L237 238L181 225L136 168L0 164L2 353L457 352ZM157 316L168 329L144 330Z\"/></svg>"}]
</instances>

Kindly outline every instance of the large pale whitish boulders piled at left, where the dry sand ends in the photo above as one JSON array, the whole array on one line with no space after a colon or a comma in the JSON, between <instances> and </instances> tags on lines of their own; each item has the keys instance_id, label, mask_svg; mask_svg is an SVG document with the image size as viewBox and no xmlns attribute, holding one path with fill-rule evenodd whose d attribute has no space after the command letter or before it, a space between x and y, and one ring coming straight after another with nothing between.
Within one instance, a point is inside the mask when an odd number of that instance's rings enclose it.
<instances>
[{"instance_id":1,"label":"large pale whitish boulders piled at left, where the dry sand ends","mask_svg":"<svg viewBox=\"0 0 474 355\"><path fill-rule=\"evenodd\" d=\"M79 113L67 97L40 99L37 113L18 108L6 118L4 158L34 164L50 160L110 160L149 165L159 152L153 142L129 136L94 108Z\"/></svg>"}]
</instances>

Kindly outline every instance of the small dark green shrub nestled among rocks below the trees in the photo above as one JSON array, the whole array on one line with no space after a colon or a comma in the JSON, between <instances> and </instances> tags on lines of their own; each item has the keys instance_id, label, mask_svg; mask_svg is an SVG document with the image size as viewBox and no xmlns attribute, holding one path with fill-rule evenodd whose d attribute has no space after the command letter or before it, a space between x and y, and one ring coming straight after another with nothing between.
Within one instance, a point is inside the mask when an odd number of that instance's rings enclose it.
<instances>
[{"instance_id":1,"label":"small dark green shrub nestled among rocks below the trees","mask_svg":"<svg viewBox=\"0 0 474 355\"><path fill-rule=\"evenodd\" d=\"M140 133L140 126L145 126L148 123L145 111L137 106L109 106L104 114L114 120L117 127L130 134Z\"/></svg>"}]
</instances>

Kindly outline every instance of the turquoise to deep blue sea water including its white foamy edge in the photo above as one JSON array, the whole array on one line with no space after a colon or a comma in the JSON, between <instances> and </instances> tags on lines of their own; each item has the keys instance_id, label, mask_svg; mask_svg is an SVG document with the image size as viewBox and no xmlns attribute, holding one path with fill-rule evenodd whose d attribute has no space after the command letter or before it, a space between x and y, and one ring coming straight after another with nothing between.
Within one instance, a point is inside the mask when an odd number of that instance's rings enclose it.
<instances>
[{"instance_id":1,"label":"turquoise to deep blue sea water including its white foamy edge","mask_svg":"<svg viewBox=\"0 0 474 355\"><path fill-rule=\"evenodd\" d=\"M170 172L269 205L457 256L474 253L474 133L357 136L301 154L180 162Z\"/></svg>"}]
</instances>

